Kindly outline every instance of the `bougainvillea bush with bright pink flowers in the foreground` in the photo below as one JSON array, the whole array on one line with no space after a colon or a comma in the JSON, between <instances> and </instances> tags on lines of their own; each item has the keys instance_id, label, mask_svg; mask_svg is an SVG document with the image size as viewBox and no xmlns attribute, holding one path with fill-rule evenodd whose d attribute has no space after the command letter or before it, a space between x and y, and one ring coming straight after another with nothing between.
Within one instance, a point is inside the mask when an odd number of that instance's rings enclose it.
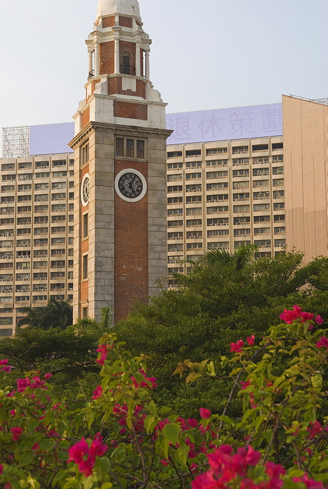
<instances>
[{"instance_id":1,"label":"bougainvillea bush with bright pink flowers in the foreground","mask_svg":"<svg viewBox=\"0 0 328 489\"><path fill-rule=\"evenodd\" d=\"M200 407L198 420L157 406L146 358L132 358L113 334L101 339L102 382L90 400L56 399L50 374L28 372L6 387L11 367L2 360L0 488L328 487L328 333L320 316L297 306L281 318L266 337L232 343L217 367L208 360L177 366L187 383L231 383L224 411ZM229 417L234 396L242 399L238 419Z\"/></svg>"}]
</instances>

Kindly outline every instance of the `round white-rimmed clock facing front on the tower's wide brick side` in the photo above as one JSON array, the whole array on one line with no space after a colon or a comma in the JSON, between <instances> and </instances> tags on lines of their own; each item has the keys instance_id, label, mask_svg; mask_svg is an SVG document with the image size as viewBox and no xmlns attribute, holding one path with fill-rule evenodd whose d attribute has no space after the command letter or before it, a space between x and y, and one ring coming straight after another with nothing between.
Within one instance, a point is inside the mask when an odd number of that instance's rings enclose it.
<instances>
[{"instance_id":1,"label":"round white-rimmed clock facing front on the tower's wide brick side","mask_svg":"<svg viewBox=\"0 0 328 489\"><path fill-rule=\"evenodd\" d=\"M137 202L145 196L147 182L140 172L127 168L116 176L115 190L121 199L127 202Z\"/></svg>"}]
</instances>

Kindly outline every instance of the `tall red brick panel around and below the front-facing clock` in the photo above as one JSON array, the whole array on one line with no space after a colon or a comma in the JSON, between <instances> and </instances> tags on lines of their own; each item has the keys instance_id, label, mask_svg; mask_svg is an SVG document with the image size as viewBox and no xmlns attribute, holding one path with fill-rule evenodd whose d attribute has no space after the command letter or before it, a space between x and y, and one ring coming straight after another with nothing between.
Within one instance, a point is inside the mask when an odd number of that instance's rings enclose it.
<instances>
[{"instance_id":1,"label":"tall red brick panel around and below the front-facing clock","mask_svg":"<svg viewBox=\"0 0 328 489\"><path fill-rule=\"evenodd\" d=\"M147 163L114 161L115 176L134 168L147 181ZM124 319L136 299L148 301L148 199L126 202L115 192L115 323Z\"/></svg>"}]
</instances>

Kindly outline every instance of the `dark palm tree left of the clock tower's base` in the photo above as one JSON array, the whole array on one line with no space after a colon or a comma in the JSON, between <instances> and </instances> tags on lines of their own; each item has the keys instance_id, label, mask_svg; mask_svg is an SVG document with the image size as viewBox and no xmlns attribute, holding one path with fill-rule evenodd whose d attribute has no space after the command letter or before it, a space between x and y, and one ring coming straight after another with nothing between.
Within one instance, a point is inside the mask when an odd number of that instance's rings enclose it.
<instances>
[{"instance_id":1,"label":"dark palm tree left of the clock tower's base","mask_svg":"<svg viewBox=\"0 0 328 489\"><path fill-rule=\"evenodd\" d=\"M44 307L23 307L21 312L26 316L18 321L17 328L28 324L32 328L43 330L50 328L64 330L73 323L72 307L68 300L49 299Z\"/></svg>"}]
</instances>

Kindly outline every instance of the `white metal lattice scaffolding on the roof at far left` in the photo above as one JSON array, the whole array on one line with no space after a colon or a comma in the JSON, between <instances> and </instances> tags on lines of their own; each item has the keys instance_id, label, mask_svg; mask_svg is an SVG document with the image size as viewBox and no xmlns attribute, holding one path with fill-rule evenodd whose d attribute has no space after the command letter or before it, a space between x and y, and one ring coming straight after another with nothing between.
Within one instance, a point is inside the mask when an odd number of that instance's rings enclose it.
<instances>
[{"instance_id":1,"label":"white metal lattice scaffolding on the roof at far left","mask_svg":"<svg viewBox=\"0 0 328 489\"><path fill-rule=\"evenodd\" d=\"M2 158L22 158L30 154L30 128L2 128Z\"/></svg>"}]
</instances>

